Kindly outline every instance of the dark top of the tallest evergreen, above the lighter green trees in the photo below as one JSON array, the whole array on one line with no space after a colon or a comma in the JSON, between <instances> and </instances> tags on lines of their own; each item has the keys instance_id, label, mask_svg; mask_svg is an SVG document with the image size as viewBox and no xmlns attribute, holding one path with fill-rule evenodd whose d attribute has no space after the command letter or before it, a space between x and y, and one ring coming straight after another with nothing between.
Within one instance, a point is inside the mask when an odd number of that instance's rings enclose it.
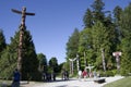
<instances>
[{"instance_id":1,"label":"dark top of the tallest evergreen, above the lighter green trees","mask_svg":"<svg viewBox=\"0 0 131 87\"><path fill-rule=\"evenodd\" d=\"M91 7L92 10L87 8L83 17L85 28L91 28L98 21L104 23L106 18L105 12L103 11L105 7L103 0L95 0Z\"/></svg>"}]
</instances>

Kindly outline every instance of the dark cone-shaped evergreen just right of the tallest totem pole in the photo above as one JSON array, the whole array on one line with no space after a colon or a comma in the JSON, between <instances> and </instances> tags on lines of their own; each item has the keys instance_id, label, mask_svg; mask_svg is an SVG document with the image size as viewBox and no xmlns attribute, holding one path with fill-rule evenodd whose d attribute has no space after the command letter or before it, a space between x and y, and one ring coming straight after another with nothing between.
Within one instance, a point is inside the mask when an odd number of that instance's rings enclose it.
<instances>
[{"instance_id":1,"label":"dark cone-shaped evergreen just right of the tallest totem pole","mask_svg":"<svg viewBox=\"0 0 131 87\"><path fill-rule=\"evenodd\" d=\"M26 29L24 32L23 49L22 77L23 79L31 78L32 80L38 80L40 78L40 74L38 72L38 59L32 36Z\"/></svg>"}]
</instances>

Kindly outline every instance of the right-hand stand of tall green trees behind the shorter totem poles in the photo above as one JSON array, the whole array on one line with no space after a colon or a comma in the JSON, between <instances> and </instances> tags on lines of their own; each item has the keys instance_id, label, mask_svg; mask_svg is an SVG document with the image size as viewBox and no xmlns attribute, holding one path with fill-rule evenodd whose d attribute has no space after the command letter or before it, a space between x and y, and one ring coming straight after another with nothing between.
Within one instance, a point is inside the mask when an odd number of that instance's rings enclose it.
<instances>
[{"instance_id":1,"label":"right-hand stand of tall green trees behind the shorter totem poles","mask_svg":"<svg viewBox=\"0 0 131 87\"><path fill-rule=\"evenodd\" d=\"M124 9L116 5L112 11L105 11L103 0L95 0L83 16L84 28L81 32L75 28L67 42L67 61L79 54L81 70L90 64L93 71L128 75L131 72L130 13L131 3ZM116 51L122 53L119 72L112 55Z\"/></svg>"}]
</instances>

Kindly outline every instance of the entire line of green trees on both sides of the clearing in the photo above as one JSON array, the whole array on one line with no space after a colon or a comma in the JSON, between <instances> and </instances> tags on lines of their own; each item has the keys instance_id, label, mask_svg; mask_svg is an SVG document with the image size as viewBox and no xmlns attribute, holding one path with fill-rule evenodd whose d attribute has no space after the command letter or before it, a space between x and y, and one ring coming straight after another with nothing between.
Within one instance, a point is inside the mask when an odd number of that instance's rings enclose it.
<instances>
[{"instance_id":1,"label":"entire line of green trees on both sides of the clearing","mask_svg":"<svg viewBox=\"0 0 131 87\"><path fill-rule=\"evenodd\" d=\"M84 28L74 29L67 42L67 61L58 64L56 57L47 61L46 54L36 53L29 30L24 29L23 70L24 79L39 80L41 74L60 73L62 69L70 70L69 59L79 54L80 69L88 64L94 71L117 74L116 59L112 52L120 51L120 74L131 73L131 3L122 9L116 5L114 11L105 11L103 0L95 0L83 15ZM11 79L17 62L20 27L5 42L3 30L0 29L0 78ZM103 63L103 57L105 64ZM104 67L105 65L105 67ZM78 72L74 62L74 73Z\"/></svg>"}]
</instances>

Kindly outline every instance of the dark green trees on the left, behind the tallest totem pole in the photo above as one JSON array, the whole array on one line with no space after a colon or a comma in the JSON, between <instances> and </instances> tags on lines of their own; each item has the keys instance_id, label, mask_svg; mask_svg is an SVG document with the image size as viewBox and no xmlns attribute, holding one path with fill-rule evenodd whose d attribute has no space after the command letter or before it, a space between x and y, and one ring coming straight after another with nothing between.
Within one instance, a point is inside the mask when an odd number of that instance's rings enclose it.
<instances>
[{"instance_id":1,"label":"dark green trees on the left, behind the tallest totem pole","mask_svg":"<svg viewBox=\"0 0 131 87\"><path fill-rule=\"evenodd\" d=\"M2 29L0 30L0 78L12 79L17 63L20 30L11 37L11 44L5 44ZM43 73L60 72L57 58L50 58L49 63L43 53L36 53L32 36L24 29L22 80L40 80Z\"/></svg>"}]
</instances>

